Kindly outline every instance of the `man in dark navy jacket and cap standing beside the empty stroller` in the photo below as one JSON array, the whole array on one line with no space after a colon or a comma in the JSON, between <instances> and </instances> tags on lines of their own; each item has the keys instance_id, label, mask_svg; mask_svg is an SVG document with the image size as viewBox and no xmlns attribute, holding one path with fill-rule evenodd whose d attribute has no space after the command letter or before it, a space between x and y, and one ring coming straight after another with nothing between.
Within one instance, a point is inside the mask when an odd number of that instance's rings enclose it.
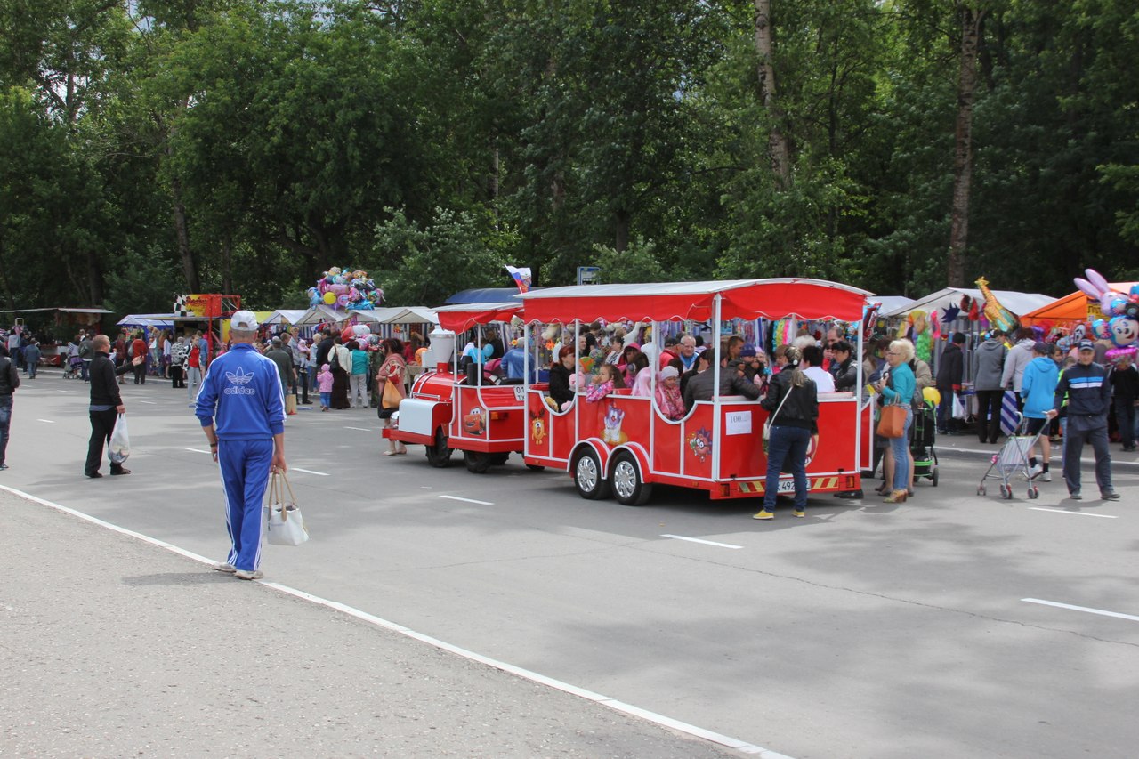
<instances>
[{"instance_id":1,"label":"man in dark navy jacket and cap standing beside the empty stroller","mask_svg":"<svg viewBox=\"0 0 1139 759\"><path fill-rule=\"evenodd\" d=\"M1096 484L1104 500L1118 500L1112 488L1112 452L1107 443L1107 411L1112 405L1112 384L1105 367L1096 364L1096 343L1081 340L1075 366L1066 369L1056 385L1048 418L1056 416L1067 395L1067 425L1064 431L1064 482L1072 500L1081 500L1080 454L1091 443L1096 454Z\"/></svg>"}]
</instances>

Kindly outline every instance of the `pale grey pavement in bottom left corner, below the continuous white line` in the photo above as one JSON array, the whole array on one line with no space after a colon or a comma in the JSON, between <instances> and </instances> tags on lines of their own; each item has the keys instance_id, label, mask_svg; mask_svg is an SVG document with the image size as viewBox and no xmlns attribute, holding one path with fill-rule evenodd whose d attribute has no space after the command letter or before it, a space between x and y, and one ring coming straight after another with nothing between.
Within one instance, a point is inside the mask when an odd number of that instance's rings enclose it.
<instances>
[{"instance_id":1,"label":"pale grey pavement in bottom left corner, below the continuous white line","mask_svg":"<svg viewBox=\"0 0 1139 759\"><path fill-rule=\"evenodd\" d=\"M739 756L7 491L0 514L0 756Z\"/></svg>"}]
</instances>

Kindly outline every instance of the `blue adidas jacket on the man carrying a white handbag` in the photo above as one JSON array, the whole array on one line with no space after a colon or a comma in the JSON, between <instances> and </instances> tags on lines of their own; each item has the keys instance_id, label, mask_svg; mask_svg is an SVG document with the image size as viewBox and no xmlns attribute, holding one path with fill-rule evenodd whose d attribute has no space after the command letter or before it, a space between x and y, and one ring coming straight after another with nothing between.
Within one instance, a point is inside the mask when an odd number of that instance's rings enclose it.
<instances>
[{"instance_id":1,"label":"blue adidas jacket on the man carrying a white handbag","mask_svg":"<svg viewBox=\"0 0 1139 759\"><path fill-rule=\"evenodd\" d=\"M285 432L280 372L271 359L238 343L210 364L195 415L202 426L218 415L222 440L268 440Z\"/></svg>"}]
</instances>

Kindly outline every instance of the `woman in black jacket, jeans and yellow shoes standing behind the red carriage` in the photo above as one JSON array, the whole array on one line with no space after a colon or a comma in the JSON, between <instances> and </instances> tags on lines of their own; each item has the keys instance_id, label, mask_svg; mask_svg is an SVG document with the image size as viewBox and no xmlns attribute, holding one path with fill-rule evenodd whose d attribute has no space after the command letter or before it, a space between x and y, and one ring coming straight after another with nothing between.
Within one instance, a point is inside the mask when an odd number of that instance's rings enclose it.
<instances>
[{"instance_id":1,"label":"woman in black jacket, jeans and yellow shoes standing behind the red carriage","mask_svg":"<svg viewBox=\"0 0 1139 759\"><path fill-rule=\"evenodd\" d=\"M803 354L788 345L776 359L781 367L771 378L767 398L760 401L771 414L771 439L768 442L768 476L764 483L763 508L757 520L775 517L772 509L779 493L779 473L789 470L795 479L795 516L806 516L806 451L811 439L819 434L819 395L814 381L798 368Z\"/></svg>"}]
</instances>

